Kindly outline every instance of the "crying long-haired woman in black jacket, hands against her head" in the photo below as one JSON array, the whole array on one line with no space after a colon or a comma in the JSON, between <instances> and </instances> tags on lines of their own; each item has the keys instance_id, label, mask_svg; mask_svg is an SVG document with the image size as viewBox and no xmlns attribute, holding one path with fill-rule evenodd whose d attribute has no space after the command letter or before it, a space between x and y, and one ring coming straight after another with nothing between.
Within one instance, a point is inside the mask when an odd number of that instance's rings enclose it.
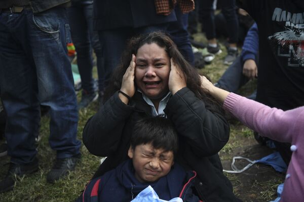
<instances>
[{"instance_id":1,"label":"crying long-haired woman in black jacket, hands against her head","mask_svg":"<svg viewBox=\"0 0 304 202\"><path fill-rule=\"evenodd\" d=\"M104 105L84 128L90 153L107 157L93 178L128 159L137 121L166 114L180 140L176 162L197 172L200 199L239 201L217 154L229 139L229 124L200 86L197 70L169 36L152 32L132 38L106 89Z\"/></svg>"}]
</instances>

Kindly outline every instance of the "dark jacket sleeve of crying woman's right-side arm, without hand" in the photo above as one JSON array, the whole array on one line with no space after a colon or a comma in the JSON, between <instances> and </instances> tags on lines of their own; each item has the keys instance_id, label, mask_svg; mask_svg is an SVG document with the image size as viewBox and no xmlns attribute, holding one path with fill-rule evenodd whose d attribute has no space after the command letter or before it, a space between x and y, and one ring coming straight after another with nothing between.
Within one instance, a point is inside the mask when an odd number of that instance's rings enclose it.
<instances>
[{"instance_id":1,"label":"dark jacket sleeve of crying woman's right-side arm, without hand","mask_svg":"<svg viewBox=\"0 0 304 202\"><path fill-rule=\"evenodd\" d=\"M178 134L197 156L217 154L229 140L229 124L208 108L203 100L184 87L170 98L165 109Z\"/></svg>"}]
</instances>

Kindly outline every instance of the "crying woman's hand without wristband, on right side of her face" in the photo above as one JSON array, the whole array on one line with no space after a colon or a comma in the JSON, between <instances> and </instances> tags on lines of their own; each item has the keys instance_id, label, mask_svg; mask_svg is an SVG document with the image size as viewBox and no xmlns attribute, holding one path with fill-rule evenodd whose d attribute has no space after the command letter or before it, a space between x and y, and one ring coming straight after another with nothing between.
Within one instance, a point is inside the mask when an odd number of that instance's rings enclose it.
<instances>
[{"instance_id":1,"label":"crying woman's hand without wristband, on right side of her face","mask_svg":"<svg viewBox=\"0 0 304 202\"><path fill-rule=\"evenodd\" d=\"M172 94L175 94L178 90L187 86L185 75L181 71L180 67L176 66L173 59L170 59L171 71L169 74L169 90Z\"/></svg>"}]
</instances>

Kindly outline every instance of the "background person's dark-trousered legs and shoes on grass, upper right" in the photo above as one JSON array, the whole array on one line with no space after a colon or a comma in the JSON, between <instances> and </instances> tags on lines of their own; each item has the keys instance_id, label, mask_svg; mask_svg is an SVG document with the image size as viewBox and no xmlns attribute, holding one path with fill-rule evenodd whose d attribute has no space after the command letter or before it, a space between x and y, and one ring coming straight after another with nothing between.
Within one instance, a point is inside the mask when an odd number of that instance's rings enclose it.
<instances>
[{"instance_id":1,"label":"background person's dark-trousered legs and shoes on grass, upper right","mask_svg":"<svg viewBox=\"0 0 304 202\"><path fill-rule=\"evenodd\" d=\"M236 13L236 1L220 1L221 12L224 15L229 28L229 45L227 47L227 56L224 59L225 65L231 65L238 56L238 29L239 21ZM216 41L215 19L214 19L214 0L201 0L199 2L199 18L203 24L208 39L207 51L211 54L221 53L220 47Z\"/></svg>"}]
</instances>

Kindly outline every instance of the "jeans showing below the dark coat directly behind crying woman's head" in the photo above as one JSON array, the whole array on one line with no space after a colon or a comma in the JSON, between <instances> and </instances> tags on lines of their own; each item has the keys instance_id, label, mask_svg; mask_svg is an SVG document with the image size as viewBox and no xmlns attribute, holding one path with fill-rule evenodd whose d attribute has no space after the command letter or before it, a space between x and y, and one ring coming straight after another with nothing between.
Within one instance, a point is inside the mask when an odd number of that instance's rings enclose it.
<instances>
[{"instance_id":1,"label":"jeans showing below the dark coat directly behind crying woman's head","mask_svg":"<svg viewBox=\"0 0 304 202\"><path fill-rule=\"evenodd\" d=\"M136 34L150 33L153 31L166 30L168 24L160 24L155 26L146 26L140 28L120 28L106 31L99 31L99 40L103 44L104 57L104 76L102 79L103 86L109 84L109 80L113 70L120 62L121 55L125 49L126 42L129 38ZM131 56L130 56L131 61Z\"/></svg>"}]
</instances>

